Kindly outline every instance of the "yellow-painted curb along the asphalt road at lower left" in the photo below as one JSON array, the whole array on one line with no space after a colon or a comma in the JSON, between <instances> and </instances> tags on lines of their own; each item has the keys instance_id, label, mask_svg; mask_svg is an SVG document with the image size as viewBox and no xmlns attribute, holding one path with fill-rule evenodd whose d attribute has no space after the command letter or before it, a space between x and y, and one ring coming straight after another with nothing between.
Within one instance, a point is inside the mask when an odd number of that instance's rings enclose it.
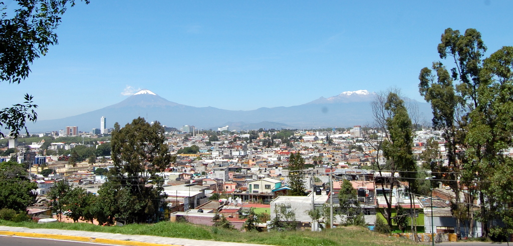
<instances>
[{"instance_id":1,"label":"yellow-painted curb along the asphalt road at lower left","mask_svg":"<svg viewBox=\"0 0 513 246\"><path fill-rule=\"evenodd\" d=\"M131 246L139 246L139 245L141 245L141 246L164 246L164 245L166 245L166 246L183 246L183 245L177 245L177 244L162 244L162 243L151 243L151 242L141 242L141 241L128 241L128 240L116 240L116 239L107 239L107 238L81 237L81 236L31 233L31 232L0 231L0 235L48 238L48 239L70 240L70 241L81 241L81 242L97 242L97 243L131 245Z\"/></svg>"}]
</instances>

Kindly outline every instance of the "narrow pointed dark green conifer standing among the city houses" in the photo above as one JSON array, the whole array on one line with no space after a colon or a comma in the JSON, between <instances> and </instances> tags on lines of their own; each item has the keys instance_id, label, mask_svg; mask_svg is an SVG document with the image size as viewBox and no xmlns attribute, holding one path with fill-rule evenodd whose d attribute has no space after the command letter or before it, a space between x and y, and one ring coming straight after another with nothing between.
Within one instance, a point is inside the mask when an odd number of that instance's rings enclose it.
<instances>
[{"instance_id":1,"label":"narrow pointed dark green conifer standing among the city houses","mask_svg":"<svg viewBox=\"0 0 513 246\"><path fill-rule=\"evenodd\" d=\"M290 153L289 156L289 185L292 190L290 191L291 196L304 196L305 193L305 172L303 168L305 166L305 159L301 157L299 153ZM313 191L312 191L313 192Z\"/></svg>"}]
</instances>

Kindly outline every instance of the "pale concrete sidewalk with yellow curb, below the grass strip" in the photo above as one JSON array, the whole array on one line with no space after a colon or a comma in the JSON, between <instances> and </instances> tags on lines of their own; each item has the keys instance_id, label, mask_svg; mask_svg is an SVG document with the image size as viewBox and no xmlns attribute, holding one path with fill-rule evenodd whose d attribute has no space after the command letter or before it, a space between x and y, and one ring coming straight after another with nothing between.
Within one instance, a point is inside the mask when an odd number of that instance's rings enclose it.
<instances>
[{"instance_id":1,"label":"pale concrete sidewalk with yellow curb, below the grass strip","mask_svg":"<svg viewBox=\"0 0 513 246\"><path fill-rule=\"evenodd\" d=\"M22 237L52 238L83 242L97 242L116 245L146 245L146 246L264 246L263 244L220 242L194 240L185 238L157 237L144 235L124 235L103 232L84 232L58 229L29 229L24 227L0 226L0 235ZM2 244L3 245L3 244ZM34 244L32 244L34 245Z\"/></svg>"}]
</instances>

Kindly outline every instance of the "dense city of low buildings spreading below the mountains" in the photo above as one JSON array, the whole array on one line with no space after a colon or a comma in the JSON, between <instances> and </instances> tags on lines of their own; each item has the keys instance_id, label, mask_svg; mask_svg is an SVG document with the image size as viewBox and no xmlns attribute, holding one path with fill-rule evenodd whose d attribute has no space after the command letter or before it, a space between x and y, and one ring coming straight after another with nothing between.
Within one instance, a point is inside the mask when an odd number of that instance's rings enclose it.
<instances>
[{"instance_id":1,"label":"dense city of low buildings spreading below the mountains","mask_svg":"<svg viewBox=\"0 0 513 246\"><path fill-rule=\"evenodd\" d=\"M89 133L81 133L76 126L68 126L63 136L98 138L102 131L108 133L106 121L106 117L102 117L100 128ZM189 125L182 126L179 131L167 132L165 143L170 153L177 157L176 162L170 164L161 174L165 180L164 192L168 196L171 220L185 218L198 223L210 221L206 222L210 224L211 220L200 217L211 217L214 211L219 210L240 229L245 220L233 215L243 213L245 208L264 207L270 218L274 218L275 206L287 204L295 211L301 228L318 230L319 225L308 216L308 211L329 204L330 196L333 196L333 204L337 207L338 191L344 179L350 180L358 191L365 223L369 226L374 225L377 216L383 216L380 208L386 207L384 196L390 192L393 194L393 207L410 206L406 182L392 187L381 182L385 177L398 179L398 173L377 172L372 168L372 163L385 164L381 150L376 152L373 148L372 141L376 140L369 138L369 135L382 136L383 133L379 130L360 125L349 128L293 130L286 139L277 138L278 133L280 130L275 129L230 131L229 126L207 132L195 130L194 126ZM47 149L73 149L83 145L81 142L60 143L60 134L61 131L59 136L54 136L56 141ZM417 131L413 152L421 154L428 139L434 139L440 141L440 155L445 155L440 136L439 131L430 128ZM98 147L105 143L108 141L86 145ZM4 149L12 148L15 144L15 141L10 140L9 146ZM64 177L67 177L68 182L83 185L87 191L96 194L106 181L106 176L95 175L95 170L113 166L110 156L97 157L94 162L84 160L72 165L68 162L68 157L42 155L45 151L42 149L43 145L44 140L17 146L16 154L0 157L0 161L6 161L17 155L18 162L29 162L34 182L38 184L37 193L43 197L55 181ZM194 145L198 147L197 153L177 154L179 150ZM299 153L305 160L305 190L308 196L287 195L290 190L288 158L291 153ZM417 164L421 166L422 160L419 159ZM40 174L42 166L53 169L54 174L44 177ZM333 178L332 192L329 187L330 175ZM222 194L230 199L209 199L215 194ZM450 213L448 205L448 201L455 199L454 192L446 186L439 186L433 189L433 197L435 200L431 206L430 197L415 196L413 206L419 211L419 230L431 233L432 227L436 230L435 233L454 233L456 218ZM203 213L198 213L200 210ZM433 218L430 217L431 211ZM434 224L431 224L431 220ZM343 224L344 217L335 216L333 222ZM473 225L472 230L467 228L466 231L478 236L479 222Z\"/></svg>"}]
</instances>

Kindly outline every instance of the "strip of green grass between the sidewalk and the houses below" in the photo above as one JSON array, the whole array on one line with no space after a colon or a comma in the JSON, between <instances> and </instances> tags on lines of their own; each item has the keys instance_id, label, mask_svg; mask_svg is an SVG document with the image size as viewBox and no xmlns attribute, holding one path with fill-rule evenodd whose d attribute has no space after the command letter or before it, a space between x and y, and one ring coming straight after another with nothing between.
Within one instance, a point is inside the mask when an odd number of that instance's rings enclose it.
<instances>
[{"instance_id":1,"label":"strip of green grass between the sidewalk and the houses below","mask_svg":"<svg viewBox=\"0 0 513 246\"><path fill-rule=\"evenodd\" d=\"M362 227L339 227L323 232L239 232L213 226L194 225L184 222L160 222L156 224L129 224L125 226L99 226L89 223L15 223L0 220L0 225L23 226L26 228L48 228L91 232L120 233L129 235L150 235L200 240L215 240L243 243L259 243L280 246L297 245L415 245L395 237L371 232Z\"/></svg>"}]
</instances>

